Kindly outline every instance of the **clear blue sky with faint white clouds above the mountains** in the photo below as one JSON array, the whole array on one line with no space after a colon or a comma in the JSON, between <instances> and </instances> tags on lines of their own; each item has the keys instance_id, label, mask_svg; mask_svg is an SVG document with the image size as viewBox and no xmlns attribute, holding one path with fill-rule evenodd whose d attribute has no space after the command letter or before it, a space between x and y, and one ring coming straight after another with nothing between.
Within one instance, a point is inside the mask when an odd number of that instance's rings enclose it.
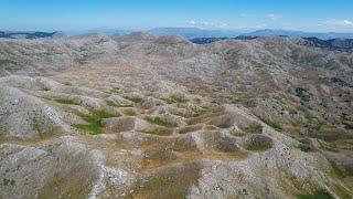
<instances>
[{"instance_id":1,"label":"clear blue sky with faint white clouds above the mountains","mask_svg":"<svg viewBox=\"0 0 353 199\"><path fill-rule=\"evenodd\" d=\"M0 30L101 27L353 32L353 0L0 0Z\"/></svg>"}]
</instances>

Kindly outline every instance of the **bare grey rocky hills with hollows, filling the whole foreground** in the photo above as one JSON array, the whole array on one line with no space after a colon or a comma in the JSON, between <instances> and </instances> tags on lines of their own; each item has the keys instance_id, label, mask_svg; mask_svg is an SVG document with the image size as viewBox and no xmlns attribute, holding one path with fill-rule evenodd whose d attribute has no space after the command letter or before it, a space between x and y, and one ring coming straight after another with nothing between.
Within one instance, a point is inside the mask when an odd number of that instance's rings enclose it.
<instances>
[{"instance_id":1,"label":"bare grey rocky hills with hollows, filling the whole foreground","mask_svg":"<svg viewBox=\"0 0 353 199\"><path fill-rule=\"evenodd\" d=\"M352 198L353 52L0 40L0 198Z\"/></svg>"}]
</instances>

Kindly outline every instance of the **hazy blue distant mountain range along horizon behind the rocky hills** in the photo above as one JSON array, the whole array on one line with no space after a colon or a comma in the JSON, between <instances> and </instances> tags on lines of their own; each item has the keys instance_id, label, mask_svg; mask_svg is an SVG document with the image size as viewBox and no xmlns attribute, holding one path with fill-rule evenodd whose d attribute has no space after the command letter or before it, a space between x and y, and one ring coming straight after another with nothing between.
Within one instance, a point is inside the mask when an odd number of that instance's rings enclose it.
<instances>
[{"instance_id":1,"label":"hazy blue distant mountain range along horizon behind the rocky hills","mask_svg":"<svg viewBox=\"0 0 353 199\"><path fill-rule=\"evenodd\" d=\"M76 31L68 32L69 34L83 34L87 32L99 32L104 35L113 34L128 34L133 32L133 30L118 30L109 28L100 28L87 31ZM290 31L290 30L257 30L249 32L249 30L205 30L197 28L156 28L146 30L146 32L154 35L180 35L188 40L194 39L205 39L211 38L211 40L224 39L224 38L258 38L258 36L289 36L289 38L318 38L320 40L331 40L331 39L353 39L353 33L336 33L336 32L302 32L302 31ZM3 32L0 31L0 38L10 39L40 39L40 38L64 38L66 34L64 32ZM213 38L213 39L212 39Z\"/></svg>"}]
</instances>

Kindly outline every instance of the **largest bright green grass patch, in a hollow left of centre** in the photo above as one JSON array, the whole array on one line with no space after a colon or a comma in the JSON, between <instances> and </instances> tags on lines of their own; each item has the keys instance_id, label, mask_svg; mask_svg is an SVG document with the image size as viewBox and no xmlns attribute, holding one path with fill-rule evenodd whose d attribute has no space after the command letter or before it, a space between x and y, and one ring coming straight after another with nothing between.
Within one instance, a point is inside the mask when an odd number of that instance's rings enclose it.
<instances>
[{"instance_id":1,"label":"largest bright green grass patch, in a hollow left of centre","mask_svg":"<svg viewBox=\"0 0 353 199\"><path fill-rule=\"evenodd\" d=\"M89 132L93 135L101 134L101 119L114 117L113 114L106 113L104 111L93 111L90 115L84 115L83 119L85 119L88 124L76 124L73 125L77 129Z\"/></svg>"}]
</instances>

